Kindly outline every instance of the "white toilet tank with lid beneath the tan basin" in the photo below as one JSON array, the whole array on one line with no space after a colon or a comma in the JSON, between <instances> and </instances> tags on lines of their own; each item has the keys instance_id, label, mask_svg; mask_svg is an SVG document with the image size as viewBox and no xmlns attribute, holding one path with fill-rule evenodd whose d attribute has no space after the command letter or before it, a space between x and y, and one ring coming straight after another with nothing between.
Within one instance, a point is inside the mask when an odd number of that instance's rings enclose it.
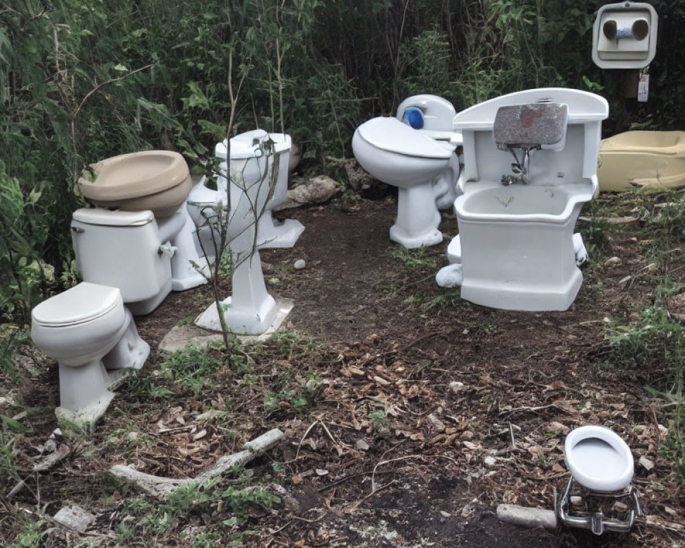
<instances>
[{"instance_id":1,"label":"white toilet tank with lid beneath the tan basin","mask_svg":"<svg viewBox=\"0 0 685 548\"><path fill-rule=\"evenodd\" d=\"M157 295L171 279L171 258L160 251L149 210L76 210L71 238L84 282L119 288L124 303Z\"/></svg>"}]
</instances>

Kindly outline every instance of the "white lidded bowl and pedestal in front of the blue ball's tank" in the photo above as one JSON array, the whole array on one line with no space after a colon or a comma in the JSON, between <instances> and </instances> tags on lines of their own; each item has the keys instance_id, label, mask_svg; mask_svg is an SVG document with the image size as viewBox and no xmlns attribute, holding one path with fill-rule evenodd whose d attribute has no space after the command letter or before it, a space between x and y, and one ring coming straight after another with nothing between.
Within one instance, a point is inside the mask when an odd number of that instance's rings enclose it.
<instances>
[{"instance_id":1,"label":"white lidded bowl and pedestal in front of the blue ball's tank","mask_svg":"<svg viewBox=\"0 0 685 548\"><path fill-rule=\"evenodd\" d=\"M352 149L360 166L398 188L391 240L409 249L443 241L433 181L448 168L456 147L456 142L434 140L396 118L374 118L356 129Z\"/></svg>"}]
</instances>

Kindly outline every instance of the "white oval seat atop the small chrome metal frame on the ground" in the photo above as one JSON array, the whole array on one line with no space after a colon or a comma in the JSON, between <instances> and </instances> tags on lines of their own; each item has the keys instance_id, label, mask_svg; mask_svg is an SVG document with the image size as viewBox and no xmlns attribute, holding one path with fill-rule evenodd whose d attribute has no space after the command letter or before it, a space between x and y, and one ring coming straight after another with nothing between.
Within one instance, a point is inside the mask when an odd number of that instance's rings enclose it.
<instances>
[{"instance_id":1,"label":"white oval seat atop the small chrome metal frame on the ground","mask_svg":"<svg viewBox=\"0 0 685 548\"><path fill-rule=\"evenodd\" d=\"M564 457L573 479L593 491L623 490L633 477L630 448L618 434L603 426L582 426L569 432Z\"/></svg>"}]
</instances>

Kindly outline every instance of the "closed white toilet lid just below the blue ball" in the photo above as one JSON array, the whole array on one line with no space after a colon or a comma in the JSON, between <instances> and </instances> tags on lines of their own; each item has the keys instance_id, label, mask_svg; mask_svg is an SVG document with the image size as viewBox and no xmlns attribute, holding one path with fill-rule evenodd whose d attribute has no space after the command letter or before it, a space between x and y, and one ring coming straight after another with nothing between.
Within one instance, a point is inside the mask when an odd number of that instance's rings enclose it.
<instances>
[{"instance_id":1,"label":"closed white toilet lid just below the blue ball","mask_svg":"<svg viewBox=\"0 0 685 548\"><path fill-rule=\"evenodd\" d=\"M374 147L414 158L449 158L455 148L440 144L397 118L372 118L357 131Z\"/></svg>"}]
</instances>

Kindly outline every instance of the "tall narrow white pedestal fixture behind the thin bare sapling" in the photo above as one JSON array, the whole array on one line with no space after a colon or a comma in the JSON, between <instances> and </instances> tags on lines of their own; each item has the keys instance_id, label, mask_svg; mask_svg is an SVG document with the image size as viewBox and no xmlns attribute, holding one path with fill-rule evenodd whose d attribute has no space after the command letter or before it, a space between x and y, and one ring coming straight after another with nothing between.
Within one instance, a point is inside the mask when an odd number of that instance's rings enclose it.
<instances>
[{"instance_id":1,"label":"tall narrow white pedestal fixture behind the thin bare sapling","mask_svg":"<svg viewBox=\"0 0 685 548\"><path fill-rule=\"evenodd\" d=\"M269 169L273 154L268 147L269 140L232 138L230 162L223 164L229 207L225 230L233 277L232 295L222 301L221 313L226 327L235 334L262 334L273 327L279 313L279 306L266 290L259 253L265 242L258 237L258 219L273 198L274 173ZM222 331L216 303L197 318L195 325Z\"/></svg>"}]
</instances>

